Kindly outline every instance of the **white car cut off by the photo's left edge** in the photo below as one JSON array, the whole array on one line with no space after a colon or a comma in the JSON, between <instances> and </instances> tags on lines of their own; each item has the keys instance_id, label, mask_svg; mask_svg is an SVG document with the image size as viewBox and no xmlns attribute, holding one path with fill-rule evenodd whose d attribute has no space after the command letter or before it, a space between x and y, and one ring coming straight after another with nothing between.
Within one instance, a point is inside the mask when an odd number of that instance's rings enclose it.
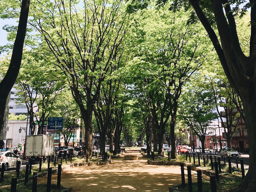
<instances>
[{"instance_id":1,"label":"white car cut off by the photo's left edge","mask_svg":"<svg viewBox=\"0 0 256 192\"><path fill-rule=\"evenodd\" d=\"M4 170L6 171L9 167L15 168L17 161L20 161L21 165L21 159L14 153L10 151L3 151L0 152L0 166L2 168L2 163L4 163Z\"/></svg>"}]
</instances>

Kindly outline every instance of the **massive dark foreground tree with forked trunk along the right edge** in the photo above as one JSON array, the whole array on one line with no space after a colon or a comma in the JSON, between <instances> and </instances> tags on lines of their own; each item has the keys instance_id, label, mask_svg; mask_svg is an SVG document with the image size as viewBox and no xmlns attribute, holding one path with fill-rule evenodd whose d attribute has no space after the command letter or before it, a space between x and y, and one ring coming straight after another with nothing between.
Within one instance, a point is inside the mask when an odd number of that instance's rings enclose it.
<instances>
[{"instance_id":1,"label":"massive dark foreground tree with forked trunk along the right edge","mask_svg":"<svg viewBox=\"0 0 256 192\"><path fill-rule=\"evenodd\" d=\"M166 1L158 1L158 3L163 2ZM254 59L256 52L256 7L254 5L256 1L250 0L240 8L239 6L244 2L239 0L174 0L171 10L178 10L179 7L185 6L186 10L191 11L190 21L197 16L212 41L231 87L242 100L248 130L250 165L241 183L242 186L248 187L240 187L238 191L249 192L256 188L256 114L254 112L256 108L256 62ZM234 7L231 8L233 3ZM237 35L235 18L240 13L243 16L248 8L251 9L251 36L249 55L246 56ZM216 24L218 34L213 24Z\"/></svg>"}]
</instances>

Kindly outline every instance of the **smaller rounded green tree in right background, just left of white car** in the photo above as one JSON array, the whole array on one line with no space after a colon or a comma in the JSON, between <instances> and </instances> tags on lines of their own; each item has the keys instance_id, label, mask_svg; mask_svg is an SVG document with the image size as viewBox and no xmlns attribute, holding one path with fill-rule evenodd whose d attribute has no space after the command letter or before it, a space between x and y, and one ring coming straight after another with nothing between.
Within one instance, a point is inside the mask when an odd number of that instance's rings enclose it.
<instances>
[{"instance_id":1,"label":"smaller rounded green tree in right background, just left of white car","mask_svg":"<svg viewBox=\"0 0 256 192\"><path fill-rule=\"evenodd\" d=\"M194 82L190 81L189 85L187 84L187 89L182 94L180 116L201 141L204 153L207 130L212 120L218 116L213 112L215 108L213 94L205 87L206 82L200 80L196 79Z\"/></svg>"}]
</instances>

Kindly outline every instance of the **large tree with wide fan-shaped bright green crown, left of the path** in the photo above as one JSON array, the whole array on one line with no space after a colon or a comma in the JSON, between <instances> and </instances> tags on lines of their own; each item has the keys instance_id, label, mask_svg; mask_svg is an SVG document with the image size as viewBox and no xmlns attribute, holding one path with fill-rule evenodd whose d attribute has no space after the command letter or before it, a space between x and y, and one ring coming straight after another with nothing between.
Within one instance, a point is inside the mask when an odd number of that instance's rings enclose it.
<instances>
[{"instance_id":1,"label":"large tree with wide fan-shaped bright green crown, left of the path","mask_svg":"<svg viewBox=\"0 0 256 192\"><path fill-rule=\"evenodd\" d=\"M84 1L81 11L78 3L45 0L34 4L30 23L41 34L39 52L55 61L67 78L81 111L86 153L91 157L94 104L109 64L122 55L128 18L122 0Z\"/></svg>"}]
</instances>

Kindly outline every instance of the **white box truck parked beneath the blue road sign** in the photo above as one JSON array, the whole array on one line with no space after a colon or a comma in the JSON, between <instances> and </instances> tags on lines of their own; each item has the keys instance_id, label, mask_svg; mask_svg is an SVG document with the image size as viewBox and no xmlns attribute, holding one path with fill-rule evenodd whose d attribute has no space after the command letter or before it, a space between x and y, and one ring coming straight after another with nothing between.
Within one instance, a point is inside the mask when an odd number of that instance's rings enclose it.
<instances>
[{"instance_id":1,"label":"white box truck parked beneath the blue road sign","mask_svg":"<svg viewBox=\"0 0 256 192\"><path fill-rule=\"evenodd\" d=\"M30 161L47 156L55 156L53 148L53 136L51 135L27 135L25 156Z\"/></svg>"}]
</instances>

